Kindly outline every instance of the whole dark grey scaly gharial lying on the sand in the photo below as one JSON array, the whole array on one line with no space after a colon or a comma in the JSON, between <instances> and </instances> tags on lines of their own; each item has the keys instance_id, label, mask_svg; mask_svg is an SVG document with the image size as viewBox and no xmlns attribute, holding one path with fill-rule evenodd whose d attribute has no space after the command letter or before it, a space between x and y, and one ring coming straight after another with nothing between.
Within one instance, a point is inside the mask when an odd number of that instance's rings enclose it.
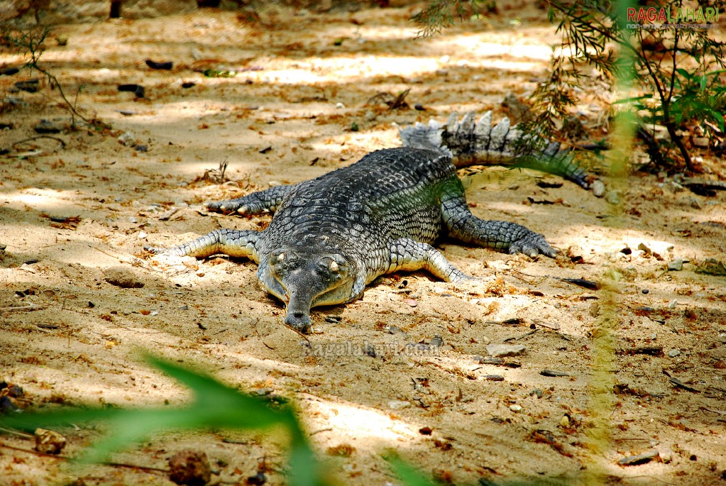
<instances>
[{"instance_id":1,"label":"whole dark grey scaly gharial lying on the sand","mask_svg":"<svg viewBox=\"0 0 726 486\"><path fill-rule=\"evenodd\" d=\"M474 122L473 112L446 125L417 123L399 131L404 147L365 155L346 168L311 181L274 186L239 199L212 202L210 210L274 217L263 231L218 229L171 249L153 253L208 257L223 253L259 264L267 292L287 304L285 324L307 332L310 308L362 297L376 277L423 268L445 281L469 279L454 268L433 242L448 234L484 247L554 258L544 236L517 223L484 221L472 215L457 177L454 158L511 158L523 133L504 118L492 128L492 112ZM526 137L526 136L524 136ZM561 172L586 186L584 170L557 143L537 152Z\"/></svg>"}]
</instances>

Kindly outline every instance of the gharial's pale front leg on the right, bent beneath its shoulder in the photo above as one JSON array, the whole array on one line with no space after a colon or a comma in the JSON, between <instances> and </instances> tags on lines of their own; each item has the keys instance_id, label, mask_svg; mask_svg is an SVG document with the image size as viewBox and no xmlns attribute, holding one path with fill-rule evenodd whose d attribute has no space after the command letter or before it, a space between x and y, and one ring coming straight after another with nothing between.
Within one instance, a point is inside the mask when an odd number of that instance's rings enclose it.
<instances>
[{"instance_id":1,"label":"gharial's pale front leg on the right, bent beneath its shoulder","mask_svg":"<svg viewBox=\"0 0 726 486\"><path fill-rule=\"evenodd\" d=\"M473 279L454 267L439 250L428 243L401 238L393 242L390 250L388 268L384 269L383 273L423 268L444 281L460 282Z\"/></svg>"}]
</instances>

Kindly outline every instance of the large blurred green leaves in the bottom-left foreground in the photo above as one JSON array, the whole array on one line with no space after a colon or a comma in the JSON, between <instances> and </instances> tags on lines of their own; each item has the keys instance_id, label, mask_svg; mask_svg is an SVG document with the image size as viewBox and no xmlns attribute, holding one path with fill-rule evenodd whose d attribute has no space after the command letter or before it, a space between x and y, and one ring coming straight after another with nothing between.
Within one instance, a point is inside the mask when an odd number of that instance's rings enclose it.
<instances>
[{"instance_id":1,"label":"large blurred green leaves in the bottom-left foreground","mask_svg":"<svg viewBox=\"0 0 726 486\"><path fill-rule=\"evenodd\" d=\"M310 448L293 408L275 405L227 387L210 376L198 374L168 361L148 361L192 390L194 398L181 408L62 408L15 416L0 416L0 427L33 431L37 427L64 427L69 424L102 422L106 436L79 458L83 462L105 461L110 453L139 442L155 432L170 429L256 430L279 427L290 436L287 464L289 484L326 484L319 463Z\"/></svg>"}]
</instances>

